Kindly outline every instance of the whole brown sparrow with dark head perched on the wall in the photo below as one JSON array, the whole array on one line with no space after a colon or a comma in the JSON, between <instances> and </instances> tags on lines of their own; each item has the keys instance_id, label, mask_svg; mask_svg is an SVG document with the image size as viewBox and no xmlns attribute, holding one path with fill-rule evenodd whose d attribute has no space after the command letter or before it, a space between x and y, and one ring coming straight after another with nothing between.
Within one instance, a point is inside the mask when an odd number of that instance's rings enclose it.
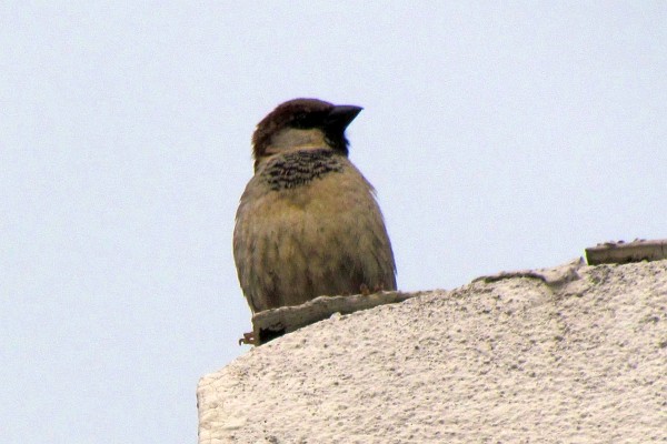
<instances>
[{"instance_id":1,"label":"whole brown sparrow with dark head perched on the wall","mask_svg":"<svg viewBox=\"0 0 667 444\"><path fill-rule=\"evenodd\" d=\"M236 213L233 258L255 314L321 295L396 290L374 186L348 159L361 107L279 104L252 134L255 174Z\"/></svg>"}]
</instances>

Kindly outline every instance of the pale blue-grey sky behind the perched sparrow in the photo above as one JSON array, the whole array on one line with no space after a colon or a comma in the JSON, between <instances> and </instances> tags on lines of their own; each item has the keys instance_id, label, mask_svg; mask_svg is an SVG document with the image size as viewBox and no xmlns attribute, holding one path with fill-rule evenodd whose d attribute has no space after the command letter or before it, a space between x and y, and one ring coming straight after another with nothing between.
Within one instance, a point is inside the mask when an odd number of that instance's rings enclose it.
<instances>
[{"instance_id":1,"label":"pale blue-grey sky behind the perched sparrow","mask_svg":"<svg viewBox=\"0 0 667 444\"><path fill-rule=\"evenodd\" d=\"M666 48L665 2L2 3L0 442L196 441L283 100L365 108L404 290L667 238Z\"/></svg>"}]
</instances>

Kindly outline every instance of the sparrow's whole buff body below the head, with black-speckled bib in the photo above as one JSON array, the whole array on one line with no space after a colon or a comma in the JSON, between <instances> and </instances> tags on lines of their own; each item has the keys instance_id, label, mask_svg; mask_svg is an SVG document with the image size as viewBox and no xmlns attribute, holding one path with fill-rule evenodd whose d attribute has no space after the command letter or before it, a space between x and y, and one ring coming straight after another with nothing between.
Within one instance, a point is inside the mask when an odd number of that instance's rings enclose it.
<instances>
[{"instance_id":1,"label":"sparrow's whole buff body below the head, with black-speckled bib","mask_svg":"<svg viewBox=\"0 0 667 444\"><path fill-rule=\"evenodd\" d=\"M396 287L372 186L347 158L315 155L271 160L241 198L235 260L253 312Z\"/></svg>"}]
</instances>

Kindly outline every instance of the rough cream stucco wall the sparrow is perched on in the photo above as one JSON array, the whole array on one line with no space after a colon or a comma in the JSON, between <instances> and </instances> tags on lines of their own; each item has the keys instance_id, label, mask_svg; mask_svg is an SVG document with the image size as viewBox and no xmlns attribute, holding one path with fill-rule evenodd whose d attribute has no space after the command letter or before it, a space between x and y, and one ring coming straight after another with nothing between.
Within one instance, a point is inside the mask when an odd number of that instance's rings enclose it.
<instances>
[{"instance_id":1,"label":"rough cream stucco wall the sparrow is perched on","mask_svg":"<svg viewBox=\"0 0 667 444\"><path fill-rule=\"evenodd\" d=\"M667 261L534 274L249 351L201 379L200 443L667 442Z\"/></svg>"}]
</instances>

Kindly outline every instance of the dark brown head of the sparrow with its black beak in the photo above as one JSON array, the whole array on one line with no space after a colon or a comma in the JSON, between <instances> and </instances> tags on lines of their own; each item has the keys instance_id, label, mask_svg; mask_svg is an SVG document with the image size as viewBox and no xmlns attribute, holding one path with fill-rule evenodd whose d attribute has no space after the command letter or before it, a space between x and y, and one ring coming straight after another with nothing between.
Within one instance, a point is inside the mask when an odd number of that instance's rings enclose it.
<instances>
[{"instance_id":1,"label":"dark brown head of the sparrow with its black beak","mask_svg":"<svg viewBox=\"0 0 667 444\"><path fill-rule=\"evenodd\" d=\"M317 99L293 99L278 105L252 135L255 168L263 158L295 150L329 148L347 155L345 130L361 110Z\"/></svg>"}]
</instances>

